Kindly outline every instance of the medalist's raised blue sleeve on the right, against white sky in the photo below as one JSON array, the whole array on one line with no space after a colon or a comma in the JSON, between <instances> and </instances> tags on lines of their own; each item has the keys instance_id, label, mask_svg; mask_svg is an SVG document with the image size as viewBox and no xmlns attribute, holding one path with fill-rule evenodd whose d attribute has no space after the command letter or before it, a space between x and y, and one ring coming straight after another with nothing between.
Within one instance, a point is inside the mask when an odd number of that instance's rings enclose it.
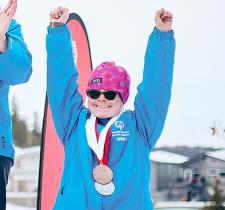
<instances>
[{"instance_id":1,"label":"medalist's raised blue sleeve on the right, against white sky","mask_svg":"<svg viewBox=\"0 0 225 210\"><path fill-rule=\"evenodd\" d=\"M143 80L134 102L136 127L150 150L164 127L171 98L174 56L173 31L160 32L155 27L148 40Z\"/></svg>"}]
</instances>

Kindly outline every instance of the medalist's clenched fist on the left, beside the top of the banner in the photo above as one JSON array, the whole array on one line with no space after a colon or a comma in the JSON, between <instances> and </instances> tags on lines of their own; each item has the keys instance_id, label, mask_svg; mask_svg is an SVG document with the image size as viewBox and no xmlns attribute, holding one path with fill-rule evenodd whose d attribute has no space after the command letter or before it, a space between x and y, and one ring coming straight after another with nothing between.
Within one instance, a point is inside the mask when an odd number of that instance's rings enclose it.
<instances>
[{"instance_id":1,"label":"medalist's clenched fist on the left, beside the top of the banner","mask_svg":"<svg viewBox=\"0 0 225 210\"><path fill-rule=\"evenodd\" d=\"M58 7L51 11L50 22L57 22L66 24L69 19L69 10L66 7Z\"/></svg>"}]
</instances>

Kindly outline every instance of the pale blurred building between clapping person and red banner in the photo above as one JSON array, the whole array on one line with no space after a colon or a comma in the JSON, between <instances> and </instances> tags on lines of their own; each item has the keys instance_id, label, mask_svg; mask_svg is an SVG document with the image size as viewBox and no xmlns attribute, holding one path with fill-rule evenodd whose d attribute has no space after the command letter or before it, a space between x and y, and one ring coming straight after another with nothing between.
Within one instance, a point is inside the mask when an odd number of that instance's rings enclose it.
<instances>
[{"instance_id":1,"label":"pale blurred building between clapping person and red banner","mask_svg":"<svg viewBox=\"0 0 225 210\"><path fill-rule=\"evenodd\" d=\"M36 206L40 146L15 148L16 157L7 186L7 202Z\"/></svg>"}]
</instances>

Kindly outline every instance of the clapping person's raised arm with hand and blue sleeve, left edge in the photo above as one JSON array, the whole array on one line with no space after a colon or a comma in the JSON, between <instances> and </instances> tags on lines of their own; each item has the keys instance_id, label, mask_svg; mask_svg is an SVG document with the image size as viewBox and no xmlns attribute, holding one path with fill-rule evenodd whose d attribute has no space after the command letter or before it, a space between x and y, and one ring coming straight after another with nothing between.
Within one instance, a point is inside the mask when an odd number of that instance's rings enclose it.
<instances>
[{"instance_id":1,"label":"clapping person's raised arm with hand and blue sleeve, left edge","mask_svg":"<svg viewBox=\"0 0 225 210\"><path fill-rule=\"evenodd\" d=\"M17 0L10 0L0 10L0 80L8 85L26 82L32 72L32 58L21 27L12 19L16 9Z\"/></svg>"}]
</instances>

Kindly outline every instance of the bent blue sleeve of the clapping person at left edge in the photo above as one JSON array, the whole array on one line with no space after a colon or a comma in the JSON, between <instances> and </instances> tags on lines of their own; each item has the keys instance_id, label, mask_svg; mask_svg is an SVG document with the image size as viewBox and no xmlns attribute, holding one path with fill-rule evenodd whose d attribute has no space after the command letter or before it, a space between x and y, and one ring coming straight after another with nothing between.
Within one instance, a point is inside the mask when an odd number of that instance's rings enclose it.
<instances>
[{"instance_id":1,"label":"bent blue sleeve of the clapping person at left edge","mask_svg":"<svg viewBox=\"0 0 225 210\"><path fill-rule=\"evenodd\" d=\"M7 49L0 54L0 80L8 85L28 81L32 73L32 56L21 33L21 26L12 20L6 33Z\"/></svg>"}]
</instances>

